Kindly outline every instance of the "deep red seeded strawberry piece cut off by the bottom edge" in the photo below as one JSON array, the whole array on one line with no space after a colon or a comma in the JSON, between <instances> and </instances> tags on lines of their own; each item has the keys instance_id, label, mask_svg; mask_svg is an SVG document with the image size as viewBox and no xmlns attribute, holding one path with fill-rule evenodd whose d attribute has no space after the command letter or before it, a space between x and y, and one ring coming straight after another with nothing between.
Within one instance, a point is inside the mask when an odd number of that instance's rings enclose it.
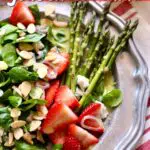
<instances>
[{"instance_id":1,"label":"deep red seeded strawberry piece cut off by the bottom edge","mask_svg":"<svg viewBox=\"0 0 150 150\"><path fill-rule=\"evenodd\" d=\"M65 138L63 150L81 150L81 144L75 137L67 136Z\"/></svg>"}]
</instances>

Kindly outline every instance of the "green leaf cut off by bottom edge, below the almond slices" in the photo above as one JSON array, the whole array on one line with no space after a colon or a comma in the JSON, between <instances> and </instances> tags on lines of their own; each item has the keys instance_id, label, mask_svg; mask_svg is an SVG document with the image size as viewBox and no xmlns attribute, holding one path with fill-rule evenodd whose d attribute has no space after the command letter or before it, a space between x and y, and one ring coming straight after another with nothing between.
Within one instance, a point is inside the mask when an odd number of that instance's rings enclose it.
<instances>
[{"instance_id":1,"label":"green leaf cut off by bottom edge, below the almond slices","mask_svg":"<svg viewBox=\"0 0 150 150\"><path fill-rule=\"evenodd\" d=\"M15 148L16 150L46 150L42 145L30 145L24 141L16 141Z\"/></svg>"}]
</instances>

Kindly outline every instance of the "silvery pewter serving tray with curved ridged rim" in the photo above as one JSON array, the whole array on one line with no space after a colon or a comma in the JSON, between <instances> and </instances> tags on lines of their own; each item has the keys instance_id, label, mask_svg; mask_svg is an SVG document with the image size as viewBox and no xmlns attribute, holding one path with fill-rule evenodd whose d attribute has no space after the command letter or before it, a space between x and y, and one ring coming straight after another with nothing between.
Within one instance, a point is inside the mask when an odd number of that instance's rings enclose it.
<instances>
[{"instance_id":1,"label":"silvery pewter serving tray with curved ridged rim","mask_svg":"<svg viewBox=\"0 0 150 150\"><path fill-rule=\"evenodd\" d=\"M29 5L35 3L39 4L41 11L44 5L51 3L56 5L58 14L68 17L70 15L69 3L27 2ZM89 4L99 15L106 3L102 5L90 1ZM0 7L0 20L8 18L10 13L10 7ZM124 28L125 21L115 14L110 12L107 19L116 31ZM134 38L129 40L129 46L118 56L114 70L117 86L123 92L123 103L105 121L105 133L93 150L132 150L144 130L149 96L148 69L136 47Z\"/></svg>"}]
</instances>

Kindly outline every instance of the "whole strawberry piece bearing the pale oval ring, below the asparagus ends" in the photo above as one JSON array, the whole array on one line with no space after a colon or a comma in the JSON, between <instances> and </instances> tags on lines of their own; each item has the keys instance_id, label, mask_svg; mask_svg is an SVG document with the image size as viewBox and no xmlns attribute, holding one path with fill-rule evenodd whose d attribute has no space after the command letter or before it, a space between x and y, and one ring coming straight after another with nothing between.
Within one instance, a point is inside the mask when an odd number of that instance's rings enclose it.
<instances>
[{"instance_id":1,"label":"whole strawberry piece bearing the pale oval ring, below the asparagus ends","mask_svg":"<svg viewBox=\"0 0 150 150\"><path fill-rule=\"evenodd\" d=\"M100 118L100 113L101 113L101 104L92 103L83 110L83 112L79 116L78 122L83 128L89 131L96 131L99 133L103 133L104 126Z\"/></svg>"}]
</instances>

